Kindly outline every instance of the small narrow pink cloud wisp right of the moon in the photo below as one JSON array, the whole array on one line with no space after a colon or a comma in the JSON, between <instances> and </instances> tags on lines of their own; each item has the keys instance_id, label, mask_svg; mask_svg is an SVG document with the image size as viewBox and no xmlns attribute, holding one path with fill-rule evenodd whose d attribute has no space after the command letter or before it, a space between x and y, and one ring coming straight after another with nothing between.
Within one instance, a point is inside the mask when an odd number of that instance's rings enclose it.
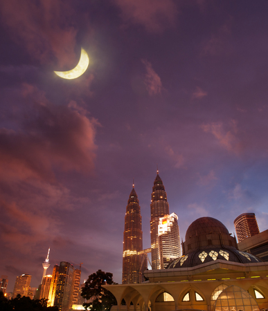
<instances>
[{"instance_id":1,"label":"small narrow pink cloud wisp right of the moon","mask_svg":"<svg viewBox=\"0 0 268 311\"><path fill-rule=\"evenodd\" d=\"M145 74L144 84L149 95L152 96L160 94L162 90L162 82L159 75L157 75L157 73L152 68L152 64L146 59L142 59L141 62L143 62L147 71Z\"/></svg>"}]
</instances>

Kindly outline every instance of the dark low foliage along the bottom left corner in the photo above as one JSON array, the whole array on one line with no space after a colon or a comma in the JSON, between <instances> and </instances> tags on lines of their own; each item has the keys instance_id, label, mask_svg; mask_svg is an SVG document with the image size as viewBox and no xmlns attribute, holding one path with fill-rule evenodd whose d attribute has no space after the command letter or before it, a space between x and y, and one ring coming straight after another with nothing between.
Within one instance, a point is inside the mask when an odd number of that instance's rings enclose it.
<instances>
[{"instance_id":1,"label":"dark low foliage along the bottom left corner","mask_svg":"<svg viewBox=\"0 0 268 311\"><path fill-rule=\"evenodd\" d=\"M1 311L58 311L57 307L47 307L47 299L30 299L30 297L17 295L14 299L7 299L0 292Z\"/></svg>"}]
</instances>

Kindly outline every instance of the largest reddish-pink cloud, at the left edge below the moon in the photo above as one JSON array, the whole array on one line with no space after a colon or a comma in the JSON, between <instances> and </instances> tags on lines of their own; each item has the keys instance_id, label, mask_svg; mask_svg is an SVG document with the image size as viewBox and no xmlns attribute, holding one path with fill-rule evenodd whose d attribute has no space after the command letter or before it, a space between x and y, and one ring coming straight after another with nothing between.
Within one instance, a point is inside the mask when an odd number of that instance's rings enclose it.
<instances>
[{"instance_id":1,"label":"largest reddish-pink cloud, at the left edge below the moon","mask_svg":"<svg viewBox=\"0 0 268 311\"><path fill-rule=\"evenodd\" d=\"M0 131L0 175L6 178L55 179L63 171L92 171L98 121L76 102L54 106L44 92L28 84L21 91L28 117L21 129ZM17 122L20 116L17 116Z\"/></svg>"}]
</instances>

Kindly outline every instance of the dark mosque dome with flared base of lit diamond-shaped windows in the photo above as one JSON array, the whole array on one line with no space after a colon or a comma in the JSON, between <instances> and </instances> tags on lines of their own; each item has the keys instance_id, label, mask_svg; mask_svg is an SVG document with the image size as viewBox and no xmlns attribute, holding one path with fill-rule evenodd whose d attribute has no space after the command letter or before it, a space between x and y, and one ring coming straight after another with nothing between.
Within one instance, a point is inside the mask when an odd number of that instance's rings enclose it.
<instances>
[{"instance_id":1,"label":"dark mosque dome with flared base of lit diamond-shaped windows","mask_svg":"<svg viewBox=\"0 0 268 311\"><path fill-rule=\"evenodd\" d=\"M261 262L252 254L240 252L228 229L219 220L211 217L195 220L188 227L182 246L183 256L172 261L167 269L194 267L213 263L217 259L236 263Z\"/></svg>"}]
</instances>

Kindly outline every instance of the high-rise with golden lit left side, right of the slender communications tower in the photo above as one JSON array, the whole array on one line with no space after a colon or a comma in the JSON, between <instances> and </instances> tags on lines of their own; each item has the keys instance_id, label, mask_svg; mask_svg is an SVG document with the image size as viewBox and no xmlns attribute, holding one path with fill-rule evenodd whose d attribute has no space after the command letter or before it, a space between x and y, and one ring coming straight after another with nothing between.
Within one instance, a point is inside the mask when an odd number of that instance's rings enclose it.
<instances>
[{"instance_id":1,"label":"high-rise with golden lit left side, right of the slender communications tower","mask_svg":"<svg viewBox=\"0 0 268 311\"><path fill-rule=\"evenodd\" d=\"M73 265L62 261L60 266L55 266L55 279L51 281L53 293L49 292L49 296L55 296L53 305L56 305L60 311L69 311L73 296ZM54 271L53 271L54 274Z\"/></svg>"}]
</instances>

